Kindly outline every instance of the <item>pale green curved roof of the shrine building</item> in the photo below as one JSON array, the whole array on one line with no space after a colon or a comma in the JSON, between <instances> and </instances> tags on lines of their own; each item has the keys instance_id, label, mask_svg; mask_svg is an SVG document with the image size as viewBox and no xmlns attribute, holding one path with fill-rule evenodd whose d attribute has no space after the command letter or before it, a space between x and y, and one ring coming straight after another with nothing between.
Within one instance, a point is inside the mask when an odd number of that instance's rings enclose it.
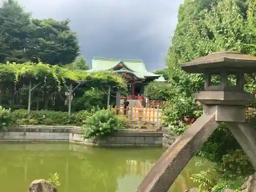
<instances>
[{"instance_id":1,"label":"pale green curved roof of the shrine building","mask_svg":"<svg viewBox=\"0 0 256 192\"><path fill-rule=\"evenodd\" d=\"M115 70L115 68L117 68L119 65L122 65L123 68ZM166 80L161 75L156 75L154 73L148 72L145 68L145 63L143 62L143 60L94 57L92 61L92 69L88 70L87 72L104 70L114 70L116 72L131 73L140 79L155 77L155 81L166 82Z\"/></svg>"}]
</instances>

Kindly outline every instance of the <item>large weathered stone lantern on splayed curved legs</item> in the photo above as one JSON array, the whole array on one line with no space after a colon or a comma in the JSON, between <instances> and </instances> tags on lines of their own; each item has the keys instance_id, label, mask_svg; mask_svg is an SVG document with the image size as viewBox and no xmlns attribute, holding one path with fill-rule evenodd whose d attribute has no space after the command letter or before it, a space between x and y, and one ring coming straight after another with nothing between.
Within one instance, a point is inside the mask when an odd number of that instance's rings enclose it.
<instances>
[{"instance_id":1,"label":"large weathered stone lantern on splayed curved legs","mask_svg":"<svg viewBox=\"0 0 256 192\"><path fill-rule=\"evenodd\" d=\"M244 91L244 74L256 72L256 57L239 52L216 52L181 64L187 73L204 76L203 115L165 151L136 192L167 192L201 145L225 122L256 169L256 131L246 122L245 105L254 95Z\"/></svg>"}]
</instances>

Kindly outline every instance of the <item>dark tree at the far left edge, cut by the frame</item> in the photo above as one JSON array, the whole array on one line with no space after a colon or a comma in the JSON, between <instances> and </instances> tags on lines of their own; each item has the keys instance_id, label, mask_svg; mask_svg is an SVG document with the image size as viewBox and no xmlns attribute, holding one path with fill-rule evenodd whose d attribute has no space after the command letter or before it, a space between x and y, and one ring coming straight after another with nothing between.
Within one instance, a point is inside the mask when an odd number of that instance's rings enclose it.
<instances>
[{"instance_id":1,"label":"dark tree at the far left edge, cut by the frame","mask_svg":"<svg viewBox=\"0 0 256 192\"><path fill-rule=\"evenodd\" d=\"M4 1L0 8L0 63L29 61L30 16L16 1Z\"/></svg>"}]
</instances>

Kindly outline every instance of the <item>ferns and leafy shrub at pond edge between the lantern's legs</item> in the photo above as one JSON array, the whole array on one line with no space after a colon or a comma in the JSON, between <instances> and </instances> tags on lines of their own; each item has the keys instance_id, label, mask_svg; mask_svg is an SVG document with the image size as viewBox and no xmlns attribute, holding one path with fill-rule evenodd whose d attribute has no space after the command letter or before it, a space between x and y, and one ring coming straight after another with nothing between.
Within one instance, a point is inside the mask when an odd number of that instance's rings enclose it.
<instances>
[{"instance_id":1,"label":"ferns and leafy shrub at pond edge between the lantern's legs","mask_svg":"<svg viewBox=\"0 0 256 192\"><path fill-rule=\"evenodd\" d=\"M242 150L233 151L223 156L222 165L203 170L198 174L191 176L191 180L200 183L199 192L216 191L222 192L223 188L230 188L239 191L246 176L253 174L254 169L249 165L248 157ZM198 164L196 166L202 166ZM229 168L236 169L234 172L228 172ZM242 172L241 172L242 171ZM236 174L234 174L236 173ZM242 174L241 174L242 173Z\"/></svg>"}]
</instances>

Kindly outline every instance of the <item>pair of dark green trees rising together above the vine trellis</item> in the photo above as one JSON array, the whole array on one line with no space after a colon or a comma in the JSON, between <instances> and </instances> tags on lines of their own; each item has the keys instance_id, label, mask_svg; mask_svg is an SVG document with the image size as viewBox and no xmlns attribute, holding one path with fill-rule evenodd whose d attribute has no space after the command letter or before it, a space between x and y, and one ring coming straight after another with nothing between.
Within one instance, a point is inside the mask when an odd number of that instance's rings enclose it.
<instances>
[{"instance_id":1,"label":"pair of dark green trees rising together above the vine trellis","mask_svg":"<svg viewBox=\"0 0 256 192\"><path fill-rule=\"evenodd\" d=\"M0 63L73 62L79 55L79 46L69 23L69 19L32 18L17 1L4 1L0 7Z\"/></svg>"}]
</instances>

